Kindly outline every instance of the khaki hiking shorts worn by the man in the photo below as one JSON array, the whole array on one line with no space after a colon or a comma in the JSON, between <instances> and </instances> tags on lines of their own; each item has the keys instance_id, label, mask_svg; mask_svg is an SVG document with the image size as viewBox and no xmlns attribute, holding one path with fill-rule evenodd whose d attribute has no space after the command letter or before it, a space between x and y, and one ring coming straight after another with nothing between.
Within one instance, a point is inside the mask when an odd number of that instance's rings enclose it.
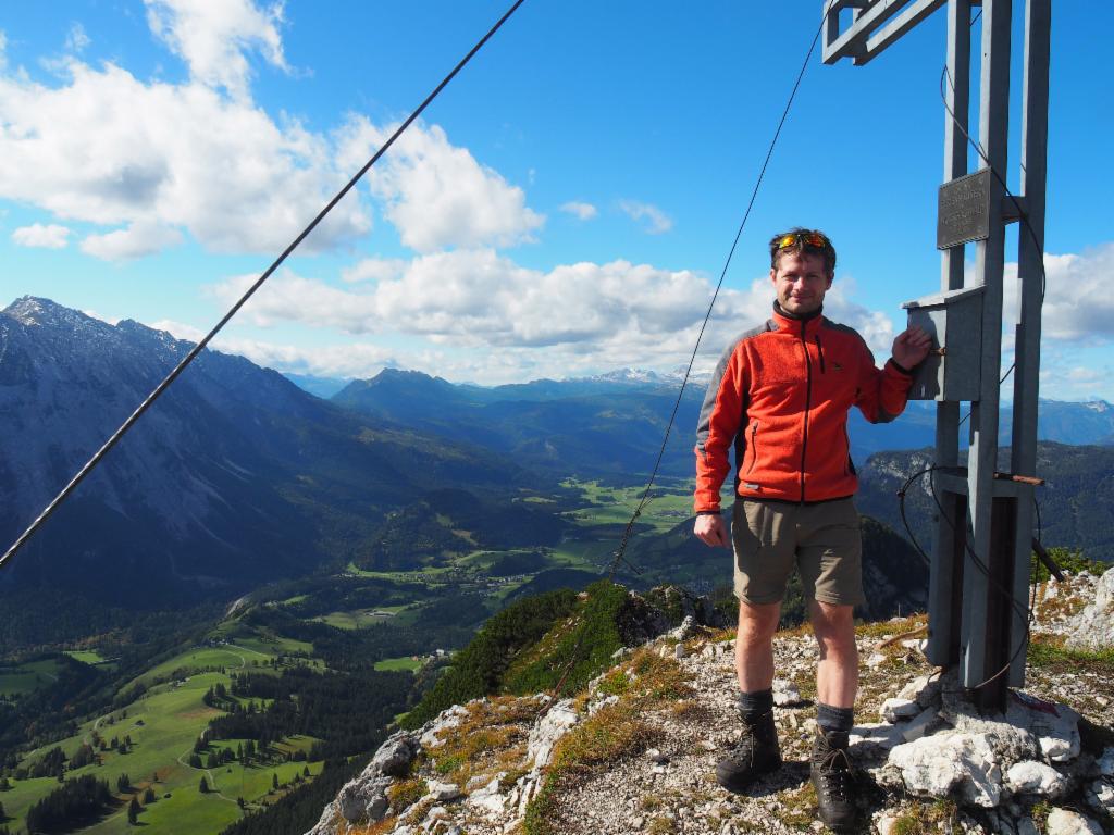
<instances>
[{"instance_id":1,"label":"khaki hiking shorts worn by the man","mask_svg":"<svg viewBox=\"0 0 1114 835\"><path fill-rule=\"evenodd\" d=\"M807 599L837 606L864 601L862 534L850 497L818 504L739 499L731 533L740 600L780 601L795 564Z\"/></svg>"}]
</instances>

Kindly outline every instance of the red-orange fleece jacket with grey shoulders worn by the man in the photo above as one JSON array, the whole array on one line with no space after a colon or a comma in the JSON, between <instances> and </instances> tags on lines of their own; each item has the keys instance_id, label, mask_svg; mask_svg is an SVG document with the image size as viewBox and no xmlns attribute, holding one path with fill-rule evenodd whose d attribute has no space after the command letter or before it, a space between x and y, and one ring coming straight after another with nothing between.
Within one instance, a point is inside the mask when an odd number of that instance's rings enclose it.
<instances>
[{"instance_id":1,"label":"red-orange fleece jacket with grey shoulders worn by the man","mask_svg":"<svg viewBox=\"0 0 1114 835\"><path fill-rule=\"evenodd\" d=\"M695 510L719 510L735 448L735 491L747 499L828 501L859 487L847 415L886 423L906 406L912 377L890 360L874 367L852 328L822 315L773 318L723 354L696 430Z\"/></svg>"}]
</instances>

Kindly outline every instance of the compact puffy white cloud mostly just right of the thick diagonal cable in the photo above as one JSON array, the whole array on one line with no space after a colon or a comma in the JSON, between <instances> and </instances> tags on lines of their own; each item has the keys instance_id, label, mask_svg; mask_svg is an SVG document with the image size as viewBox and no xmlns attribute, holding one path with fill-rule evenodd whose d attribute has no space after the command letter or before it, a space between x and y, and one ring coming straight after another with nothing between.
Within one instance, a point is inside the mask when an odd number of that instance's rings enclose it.
<instances>
[{"instance_id":1,"label":"compact puffy white cloud mostly just right of the thick diagonal cable","mask_svg":"<svg viewBox=\"0 0 1114 835\"><path fill-rule=\"evenodd\" d=\"M340 158L358 169L393 130L353 116L340 134ZM451 145L436 125L411 126L371 170L369 184L402 243L420 253L509 246L529 240L545 223L526 206L521 188Z\"/></svg>"}]
</instances>

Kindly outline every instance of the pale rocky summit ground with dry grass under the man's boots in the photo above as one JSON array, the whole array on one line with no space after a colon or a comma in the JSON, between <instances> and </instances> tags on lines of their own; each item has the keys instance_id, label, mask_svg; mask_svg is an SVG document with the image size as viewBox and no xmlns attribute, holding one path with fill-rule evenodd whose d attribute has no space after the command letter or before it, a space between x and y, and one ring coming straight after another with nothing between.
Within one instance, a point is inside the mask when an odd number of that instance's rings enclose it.
<instances>
[{"instance_id":1,"label":"pale rocky summit ground with dry grass under the man's boots","mask_svg":"<svg viewBox=\"0 0 1114 835\"><path fill-rule=\"evenodd\" d=\"M1114 622L1111 592L1114 570L1035 589L1026 687L1005 716L927 662L924 616L860 627L857 831L1114 832L1114 648L1071 648ZM714 778L739 735L733 635L686 618L571 698L488 696L395 733L310 835L823 831L808 779L815 642L782 631L774 652L785 765L747 794Z\"/></svg>"}]
</instances>

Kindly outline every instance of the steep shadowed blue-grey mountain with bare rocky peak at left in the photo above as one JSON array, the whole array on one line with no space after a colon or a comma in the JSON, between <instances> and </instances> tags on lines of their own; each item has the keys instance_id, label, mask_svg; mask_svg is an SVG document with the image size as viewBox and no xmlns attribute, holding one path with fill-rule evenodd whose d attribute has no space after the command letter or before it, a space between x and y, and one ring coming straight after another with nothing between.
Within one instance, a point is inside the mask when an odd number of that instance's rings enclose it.
<instances>
[{"instance_id":1,"label":"steep shadowed blue-grey mountain with bare rocky peak at left","mask_svg":"<svg viewBox=\"0 0 1114 835\"><path fill-rule=\"evenodd\" d=\"M189 347L47 299L0 314L6 542ZM233 593L343 559L387 509L430 489L522 478L490 453L354 415L274 371L205 351L0 582L140 605Z\"/></svg>"}]
</instances>

